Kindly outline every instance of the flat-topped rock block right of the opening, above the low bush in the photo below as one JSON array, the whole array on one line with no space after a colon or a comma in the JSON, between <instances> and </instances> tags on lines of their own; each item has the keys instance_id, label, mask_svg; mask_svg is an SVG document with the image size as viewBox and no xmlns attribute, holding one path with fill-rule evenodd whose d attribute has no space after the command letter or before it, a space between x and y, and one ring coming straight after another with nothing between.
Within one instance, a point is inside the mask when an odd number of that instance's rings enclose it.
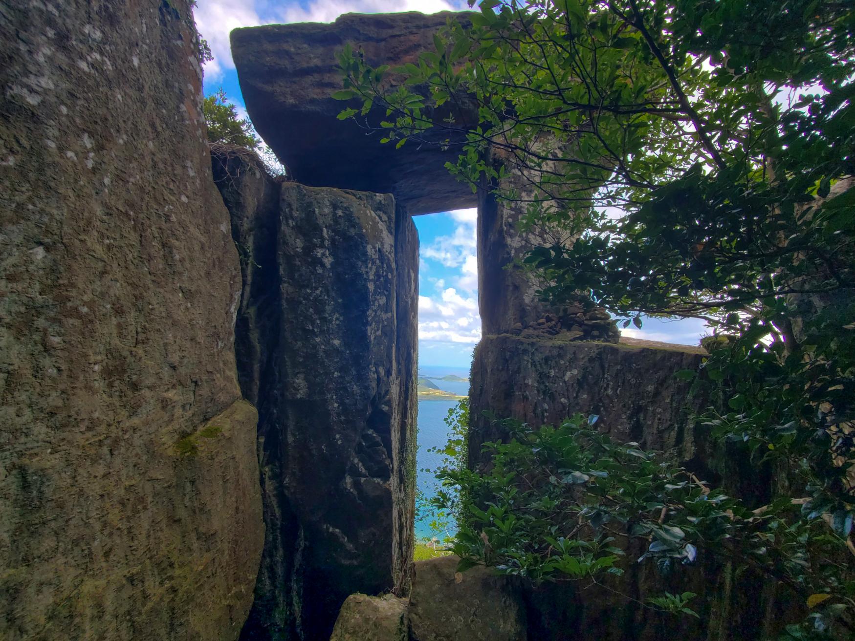
<instances>
[{"instance_id":1,"label":"flat-topped rock block right of the opening, above the low bush","mask_svg":"<svg viewBox=\"0 0 855 641\"><path fill-rule=\"evenodd\" d=\"M482 415L532 425L555 424L577 412L599 415L598 427L617 440L693 456L685 429L689 384L681 369L697 369L700 350L632 344L568 342L557 337L486 336L475 349L469 391L470 463L483 462L481 444L502 438Z\"/></svg>"}]
</instances>

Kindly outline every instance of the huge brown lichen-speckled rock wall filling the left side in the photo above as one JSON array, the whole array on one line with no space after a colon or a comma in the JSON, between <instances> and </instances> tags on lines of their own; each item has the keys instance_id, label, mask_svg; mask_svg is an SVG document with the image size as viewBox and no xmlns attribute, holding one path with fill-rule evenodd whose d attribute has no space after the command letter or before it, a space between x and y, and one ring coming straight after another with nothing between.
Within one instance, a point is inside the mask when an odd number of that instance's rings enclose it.
<instances>
[{"instance_id":1,"label":"huge brown lichen-speckled rock wall filling the left side","mask_svg":"<svg viewBox=\"0 0 855 641\"><path fill-rule=\"evenodd\" d=\"M58 5L0 7L0 638L237 638L257 415L190 7Z\"/></svg>"}]
</instances>

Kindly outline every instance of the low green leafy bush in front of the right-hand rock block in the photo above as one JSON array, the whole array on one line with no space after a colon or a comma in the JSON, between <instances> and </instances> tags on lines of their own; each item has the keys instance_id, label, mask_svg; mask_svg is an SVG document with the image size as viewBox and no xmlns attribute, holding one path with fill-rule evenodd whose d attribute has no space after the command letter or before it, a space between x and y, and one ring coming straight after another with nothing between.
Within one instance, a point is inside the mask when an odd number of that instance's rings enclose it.
<instances>
[{"instance_id":1,"label":"low green leafy bush in front of the right-hand rock block","mask_svg":"<svg viewBox=\"0 0 855 641\"><path fill-rule=\"evenodd\" d=\"M738 560L785 582L825 621L840 615L834 584L842 539L822 522L800 520L781 498L748 509L667 458L618 444L593 428L596 416L533 429L504 421L507 443L488 443L492 469L445 469L437 509L460 515L450 549L462 567L486 564L534 581L597 584L628 564L652 562L670 574L696 562ZM640 542L637 559L628 556ZM852 594L852 580L834 584ZM695 595L652 597L647 607L697 615ZM815 613L818 614L818 613Z\"/></svg>"}]
</instances>

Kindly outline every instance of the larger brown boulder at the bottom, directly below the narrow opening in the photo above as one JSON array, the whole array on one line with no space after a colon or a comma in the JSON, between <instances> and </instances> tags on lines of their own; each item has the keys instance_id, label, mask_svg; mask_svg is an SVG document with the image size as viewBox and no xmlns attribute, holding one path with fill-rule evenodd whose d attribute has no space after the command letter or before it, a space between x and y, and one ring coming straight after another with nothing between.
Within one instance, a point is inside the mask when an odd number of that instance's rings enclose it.
<instances>
[{"instance_id":1,"label":"larger brown boulder at the bottom, directly below the narrow opening","mask_svg":"<svg viewBox=\"0 0 855 641\"><path fill-rule=\"evenodd\" d=\"M457 556L414 563L410 635L416 641L524 641L522 592L515 581L472 567L457 573Z\"/></svg>"}]
</instances>

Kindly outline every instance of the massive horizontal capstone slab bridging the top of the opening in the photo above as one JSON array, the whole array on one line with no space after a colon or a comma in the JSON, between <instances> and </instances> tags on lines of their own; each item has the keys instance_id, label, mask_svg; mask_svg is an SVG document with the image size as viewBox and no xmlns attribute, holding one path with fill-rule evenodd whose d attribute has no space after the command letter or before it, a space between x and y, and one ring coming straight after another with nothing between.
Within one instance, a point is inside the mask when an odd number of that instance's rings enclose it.
<instances>
[{"instance_id":1,"label":"massive horizontal capstone slab bridging the top of the opening","mask_svg":"<svg viewBox=\"0 0 855 641\"><path fill-rule=\"evenodd\" d=\"M465 13L423 15L346 14L333 24L254 26L232 32L232 53L253 124L294 179L305 185L392 193L411 215L475 207L475 194L445 169L456 147L380 144L354 121L339 121L347 103L333 100L342 88L335 53L345 43L362 50L374 66L417 62L433 50L433 33ZM465 101L453 107L457 121L473 124ZM439 121L446 114L437 114ZM370 126L385 120L374 109ZM437 142L449 137L437 131Z\"/></svg>"}]
</instances>

